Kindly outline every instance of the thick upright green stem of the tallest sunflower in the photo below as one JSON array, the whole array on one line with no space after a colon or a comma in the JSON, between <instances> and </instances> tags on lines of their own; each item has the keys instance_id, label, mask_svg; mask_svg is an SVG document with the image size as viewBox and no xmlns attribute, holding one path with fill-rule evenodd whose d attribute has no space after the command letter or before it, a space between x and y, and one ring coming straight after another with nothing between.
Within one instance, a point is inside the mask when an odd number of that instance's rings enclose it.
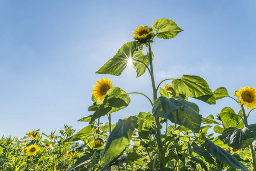
<instances>
[{"instance_id":1,"label":"thick upright green stem of the tallest sunflower","mask_svg":"<svg viewBox=\"0 0 256 171\"><path fill-rule=\"evenodd\" d=\"M153 72L153 58L152 58L152 50L151 50L151 44L149 44L148 51L149 51L149 63L150 63L150 70L151 70L151 83L152 83L152 89L153 89L153 103L155 103L155 100L157 99L157 89L155 84L155 78L154 78L154 72ZM163 168L165 166L165 153L164 153L164 146L162 145L162 138L161 138L161 125L159 117L155 117L156 121L156 141L157 141L157 148L159 149L159 159L160 159L160 168Z\"/></svg>"}]
</instances>

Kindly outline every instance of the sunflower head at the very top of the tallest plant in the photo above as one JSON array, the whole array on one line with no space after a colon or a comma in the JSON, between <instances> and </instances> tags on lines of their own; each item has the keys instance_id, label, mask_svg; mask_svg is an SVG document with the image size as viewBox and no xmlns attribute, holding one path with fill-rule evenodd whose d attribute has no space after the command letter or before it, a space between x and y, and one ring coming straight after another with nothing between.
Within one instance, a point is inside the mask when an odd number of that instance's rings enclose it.
<instances>
[{"instance_id":1,"label":"sunflower head at the very top of the tallest plant","mask_svg":"<svg viewBox=\"0 0 256 171\"><path fill-rule=\"evenodd\" d=\"M147 43L153 37L153 29L149 28L148 26L140 26L138 27L135 32L132 34L135 36L135 41L140 43Z\"/></svg>"}]
</instances>

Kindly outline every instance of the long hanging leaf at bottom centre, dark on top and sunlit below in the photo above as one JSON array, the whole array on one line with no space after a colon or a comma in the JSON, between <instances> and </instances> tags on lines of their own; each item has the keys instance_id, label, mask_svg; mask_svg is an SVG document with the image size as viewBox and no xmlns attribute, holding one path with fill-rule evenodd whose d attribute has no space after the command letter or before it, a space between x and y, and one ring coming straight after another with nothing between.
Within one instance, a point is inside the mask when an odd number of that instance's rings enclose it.
<instances>
[{"instance_id":1,"label":"long hanging leaf at bottom centre, dark on top and sunlit below","mask_svg":"<svg viewBox=\"0 0 256 171\"><path fill-rule=\"evenodd\" d=\"M100 166L105 169L116 161L126 146L130 143L132 133L137 125L137 117L132 116L126 120L119 120L110 133L104 149L101 151Z\"/></svg>"}]
</instances>

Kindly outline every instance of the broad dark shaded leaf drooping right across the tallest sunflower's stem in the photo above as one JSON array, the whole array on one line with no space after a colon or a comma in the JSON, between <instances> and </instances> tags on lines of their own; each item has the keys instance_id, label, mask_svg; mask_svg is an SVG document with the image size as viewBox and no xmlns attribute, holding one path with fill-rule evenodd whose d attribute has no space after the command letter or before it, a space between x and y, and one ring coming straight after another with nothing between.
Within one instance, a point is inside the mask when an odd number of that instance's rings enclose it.
<instances>
[{"instance_id":1,"label":"broad dark shaded leaf drooping right across the tallest sunflower's stem","mask_svg":"<svg viewBox=\"0 0 256 171\"><path fill-rule=\"evenodd\" d=\"M172 123L180 124L199 133L202 116L196 104L184 100L181 96L156 99L152 113L154 117L164 117Z\"/></svg>"}]
</instances>

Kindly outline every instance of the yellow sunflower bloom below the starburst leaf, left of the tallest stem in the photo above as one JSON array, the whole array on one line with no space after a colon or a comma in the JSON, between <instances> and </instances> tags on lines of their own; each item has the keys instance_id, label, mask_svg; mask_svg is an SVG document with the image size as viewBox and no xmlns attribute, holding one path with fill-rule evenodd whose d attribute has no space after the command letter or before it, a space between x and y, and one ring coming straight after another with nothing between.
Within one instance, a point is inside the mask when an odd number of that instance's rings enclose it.
<instances>
[{"instance_id":1,"label":"yellow sunflower bloom below the starburst leaf, left of the tallest stem","mask_svg":"<svg viewBox=\"0 0 256 171\"><path fill-rule=\"evenodd\" d=\"M97 80L97 84L95 84L94 89L92 89L92 95L101 101L112 87L112 83L109 79L101 78L101 80Z\"/></svg>"}]
</instances>

